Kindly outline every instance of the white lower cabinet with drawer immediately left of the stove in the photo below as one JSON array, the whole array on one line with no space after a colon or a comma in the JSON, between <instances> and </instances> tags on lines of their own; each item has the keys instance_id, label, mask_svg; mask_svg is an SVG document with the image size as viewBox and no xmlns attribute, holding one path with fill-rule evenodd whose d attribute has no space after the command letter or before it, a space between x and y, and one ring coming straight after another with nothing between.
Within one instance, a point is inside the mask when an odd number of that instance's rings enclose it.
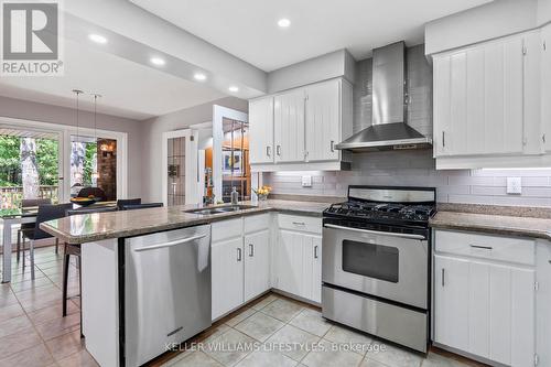
<instances>
[{"instance_id":1,"label":"white lower cabinet with drawer immediately left of the stove","mask_svg":"<svg viewBox=\"0 0 551 367\"><path fill-rule=\"evenodd\" d=\"M278 242L274 251L276 288L321 303L321 219L280 214L279 224ZM296 228L291 227L291 225Z\"/></svg>"}]
</instances>

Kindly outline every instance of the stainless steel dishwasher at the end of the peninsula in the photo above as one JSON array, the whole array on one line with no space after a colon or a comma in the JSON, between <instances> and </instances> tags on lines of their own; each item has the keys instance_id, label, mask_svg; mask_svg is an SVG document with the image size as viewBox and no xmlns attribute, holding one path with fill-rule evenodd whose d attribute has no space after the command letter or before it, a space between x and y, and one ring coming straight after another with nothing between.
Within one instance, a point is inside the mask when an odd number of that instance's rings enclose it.
<instances>
[{"instance_id":1,"label":"stainless steel dishwasher at the end of the peninsula","mask_svg":"<svg viewBox=\"0 0 551 367\"><path fill-rule=\"evenodd\" d=\"M123 251L123 364L141 366L212 324L210 225L127 238Z\"/></svg>"}]
</instances>

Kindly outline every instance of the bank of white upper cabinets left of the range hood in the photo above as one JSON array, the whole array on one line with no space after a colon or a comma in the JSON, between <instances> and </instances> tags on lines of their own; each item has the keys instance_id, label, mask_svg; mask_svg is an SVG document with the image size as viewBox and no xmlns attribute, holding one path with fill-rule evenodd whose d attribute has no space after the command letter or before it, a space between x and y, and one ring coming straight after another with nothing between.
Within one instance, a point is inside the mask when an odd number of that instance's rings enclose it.
<instances>
[{"instance_id":1,"label":"bank of white upper cabinets left of the range hood","mask_svg":"<svg viewBox=\"0 0 551 367\"><path fill-rule=\"evenodd\" d=\"M341 170L347 162L349 154L335 144L352 134L348 82L331 79L253 99L249 112L252 171Z\"/></svg>"}]
</instances>

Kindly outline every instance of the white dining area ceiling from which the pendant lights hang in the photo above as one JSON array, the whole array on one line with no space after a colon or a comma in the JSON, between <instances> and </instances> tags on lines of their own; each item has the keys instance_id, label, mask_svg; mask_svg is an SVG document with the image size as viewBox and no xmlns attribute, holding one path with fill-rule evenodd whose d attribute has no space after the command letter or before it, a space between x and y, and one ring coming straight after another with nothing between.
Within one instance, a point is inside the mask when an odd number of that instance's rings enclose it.
<instances>
[{"instance_id":1,"label":"white dining area ceiling from which the pendant lights hang","mask_svg":"<svg viewBox=\"0 0 551 367\"><path fill-rule=\"evenodd\" d=\"M110 53L65 40L65 75L2 77L0 95L63 107L74 107L73 89L102 97L98 111L142 120L196 106L225 95L197 83L160 72ZM83 96L83 109L93 110Z\"/></svg>"}]
</instances>

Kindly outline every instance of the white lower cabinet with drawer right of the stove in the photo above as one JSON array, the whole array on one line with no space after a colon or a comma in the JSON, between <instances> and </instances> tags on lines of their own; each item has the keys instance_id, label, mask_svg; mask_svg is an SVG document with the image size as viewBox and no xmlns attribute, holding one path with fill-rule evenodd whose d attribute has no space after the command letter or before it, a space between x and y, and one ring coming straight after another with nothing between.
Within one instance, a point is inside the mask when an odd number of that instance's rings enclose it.
<instances>
[{"instance_id":1,"label":"white lower cabinet with drawer right of the stove","mask_svg":"<svg viewBox=\"0 0 551 367\"><path fill-rule=\"evenodd\" d=\"M445 234L454 234L457 244L463 235L464 247L475 250L473 257L463 256L461 246L439 242L451 238ZM472 242L473 236L477 242ZM480 237L485 237L484 244ZM447 231L436 231L435 239L434 341L503 365L532 366L536 269L491 258L495 249L503 253L499 246L504 242L515 248L515 240ZM528 242L523 248L527 256L534 251L533 241Z\"/></svg>"}]
</instances>

